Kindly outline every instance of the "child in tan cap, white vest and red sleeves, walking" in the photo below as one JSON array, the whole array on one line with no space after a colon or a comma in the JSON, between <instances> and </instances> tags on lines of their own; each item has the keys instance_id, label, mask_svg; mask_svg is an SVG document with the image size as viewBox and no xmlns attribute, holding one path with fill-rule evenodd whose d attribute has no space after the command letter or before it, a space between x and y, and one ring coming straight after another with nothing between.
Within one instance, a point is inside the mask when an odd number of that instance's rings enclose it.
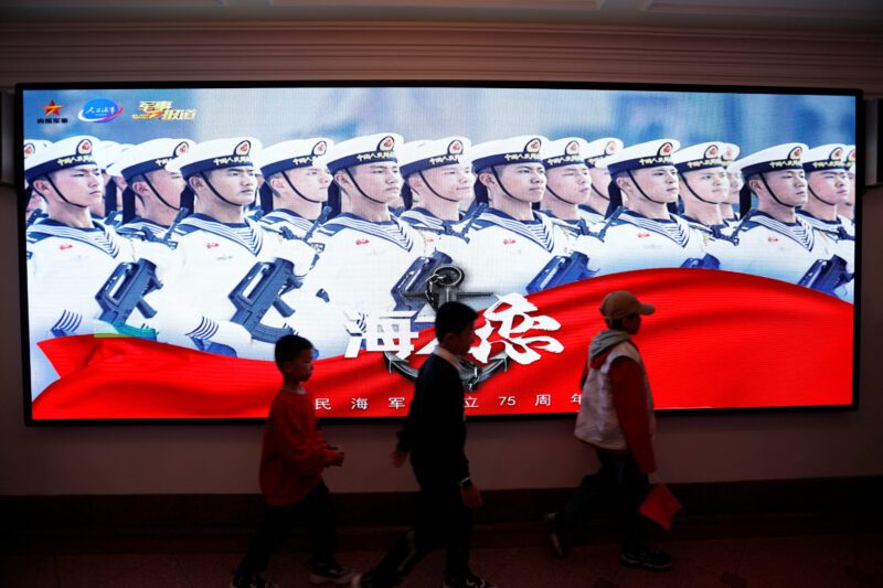
<instances>
[{"instance_id":1,"label":"child in tan cap, white vest and red sleeves, walking","mask_svg":"<svg viewBox=\"0 0 883 588\"><path fill-rule=\"evenodd\" d=\"M549 537L558 557L567 550L567 533L581 514L611 494L623 531L620 562L651 571L671 569L671 557L647 543L646 522L638 510L647 496L648 474L656 471L653 398L640 352L631 336L641 317L655 308L625 290L608 293L600 303L607 329L592 340L583 372L583 396L574 435L592 445L600 469L583 478L558 512L546 515Z\"/></svg>"}]
</instances>

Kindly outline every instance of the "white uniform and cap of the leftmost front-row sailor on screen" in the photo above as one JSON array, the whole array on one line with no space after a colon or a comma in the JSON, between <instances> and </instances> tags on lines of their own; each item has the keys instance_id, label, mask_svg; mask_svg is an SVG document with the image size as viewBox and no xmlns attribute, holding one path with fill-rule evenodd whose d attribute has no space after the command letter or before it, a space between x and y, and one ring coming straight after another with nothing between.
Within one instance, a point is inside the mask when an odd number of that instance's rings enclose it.
<instances>
[{"instance_id":1,"label":"white uniform and cap of the leftmost front-row sailor on screen","mask_svg":"<svg viewBox=\"0 0 883 588\"><path fill-rule=\"evenodd\" d=\"M29 184L49 173L78 165L97 167L97 139L71 137L45 146L25 160ZM61 193L62 197L65 197ZM66 200L66 199L65 199ZM102 323L96 300L119 264L135 259L131 244L111 228L93 221L91 228L67 226L43 216L25 233L31 394L36 397L57 379L38 343L56 336L115 332Z\"/></svg>"}]
</instances>

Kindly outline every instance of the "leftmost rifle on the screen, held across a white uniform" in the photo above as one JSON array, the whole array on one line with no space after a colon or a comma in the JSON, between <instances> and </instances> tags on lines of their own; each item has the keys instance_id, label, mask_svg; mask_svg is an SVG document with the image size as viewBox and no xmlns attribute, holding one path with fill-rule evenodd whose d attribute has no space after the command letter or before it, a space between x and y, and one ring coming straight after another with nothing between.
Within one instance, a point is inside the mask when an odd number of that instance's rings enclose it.
<instances>
[{"instance_id":1,"label":"leftmost rifle on the screen, held across a white uniform","mask_svg":"<svg viewBox=\"0 0 883 588\"><path fill-rule=\"evenodd\" d=\"M95 295L102 307L98 319L121 325L136 308L148 319L156 316L157 311L145 301L145 297L159 288L162 288L162 282L157 278L157 266L152 261L138 259L119 264Z\"/></svg>"}]
</instances>

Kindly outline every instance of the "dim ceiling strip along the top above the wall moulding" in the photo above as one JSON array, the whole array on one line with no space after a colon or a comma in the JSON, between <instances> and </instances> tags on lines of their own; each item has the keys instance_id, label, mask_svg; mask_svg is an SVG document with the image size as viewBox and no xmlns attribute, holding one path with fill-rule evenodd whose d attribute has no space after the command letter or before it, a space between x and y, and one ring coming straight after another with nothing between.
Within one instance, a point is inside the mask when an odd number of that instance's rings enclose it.
<instances>
[{"instance_id":1,"label":"dim ceiling strip along the top above the wall moulding","mask_svg":"<svg viewBox=\"0 0 883 588\"><path fill-rule=\"evenodd\" d=\"M2 0L2 20L466 21L883 34L883 0Z\"/></svg>"}]
</instances>

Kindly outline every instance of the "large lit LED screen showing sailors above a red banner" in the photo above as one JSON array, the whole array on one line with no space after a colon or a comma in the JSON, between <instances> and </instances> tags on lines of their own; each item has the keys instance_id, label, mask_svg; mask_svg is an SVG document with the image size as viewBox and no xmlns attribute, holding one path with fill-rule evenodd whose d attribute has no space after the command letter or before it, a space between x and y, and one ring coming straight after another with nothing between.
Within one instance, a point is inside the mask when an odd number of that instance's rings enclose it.
<instances>
[{"instance_id":1,"label":"large lit LED screen showing sailors above a red banner","mask_svg":"<svg viewBox=\"0 0 883 588\"><path fill-rule=\"evenodd\" d=\"M434 312L469 416L574 413L613 290L656 407L854 406L857 92L19 87L29 423L398 417Z\"/></svg>"}]
</instances>

